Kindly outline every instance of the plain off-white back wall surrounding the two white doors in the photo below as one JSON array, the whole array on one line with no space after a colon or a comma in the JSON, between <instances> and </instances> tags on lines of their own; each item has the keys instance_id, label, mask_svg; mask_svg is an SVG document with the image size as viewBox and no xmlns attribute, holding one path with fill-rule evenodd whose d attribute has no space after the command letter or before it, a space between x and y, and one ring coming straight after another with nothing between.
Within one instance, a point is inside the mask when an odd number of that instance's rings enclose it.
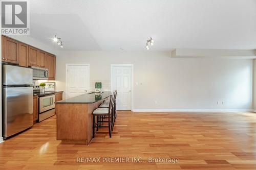
<instances>
[{"instance_id":1,"label":"plain off-white back wall surrounding the two white doors","mask_svg":"<svg viewBox=\"0 0 256 170\"><path fill-rule=\"evenodd\" d=\"M56 58L57 90L66 90L67 63L90 64L91 81L110 81L110 64L134 64L137 111L252 109L251 59L176 59L151 51L65 51Z\"/></svg>"}]
</instances>

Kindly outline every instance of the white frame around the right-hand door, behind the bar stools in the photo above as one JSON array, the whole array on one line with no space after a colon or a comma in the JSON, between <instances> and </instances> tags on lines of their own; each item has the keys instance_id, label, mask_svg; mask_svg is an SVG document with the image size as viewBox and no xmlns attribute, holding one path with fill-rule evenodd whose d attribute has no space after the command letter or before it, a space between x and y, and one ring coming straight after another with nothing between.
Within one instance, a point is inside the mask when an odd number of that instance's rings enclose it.
<instances>
[{"instance_id":1,"label":"white frame around the right-hand door, behind the bar stools","mask_svg":"<svg viewBox=\"0 0 256 170\"><path fill-rule=\"evenodd\" d=\"M113 91L114 89L113 89L113 81L112 81L112 79L113 79L113 68L115 67L115 66L130 66L131 68L132 68L132 77L131 77L131 79L132 79L132 82L131 82L131 104L132 104L132 106L131 106L131 111L133 112L133 110L134 110L134 83L133 83L133 79L134 79L134 73L133 73L133 64L110 64L110 89L111 89L111 91Z\"/></svg>"}]
</instances>

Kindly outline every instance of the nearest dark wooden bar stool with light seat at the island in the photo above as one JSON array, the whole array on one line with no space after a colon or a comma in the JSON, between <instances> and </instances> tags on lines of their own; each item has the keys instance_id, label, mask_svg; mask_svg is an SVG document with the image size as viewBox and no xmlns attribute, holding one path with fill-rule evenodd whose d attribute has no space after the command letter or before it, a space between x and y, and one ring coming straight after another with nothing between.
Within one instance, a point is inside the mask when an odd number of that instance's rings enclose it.
<instances>
[{"instance_id":1,"label":"nearest dark wooden bar stool with light seat at the island","mask_svg":"<svg viewBox=\"0 0 256 170\"><path fill-rule=\"evenodd\" d=\"M97 131L101 127L108 127L109 128L109 135L111 137L111 131L113 131L113 123L112 123L112 111L113 111L113 103L114 103L114 94L111 94L110 96L110 107L109 108L97 108L93 111L93 138L95 135L95 128L97 128ZM95 116L97 116L97 123L95 124ZM108 121L101 121L99 120L99 116L104 116L105 118L108 118ZM100 123L108 122L108 126L101 126Z\"/></svg>"}]
</instances>

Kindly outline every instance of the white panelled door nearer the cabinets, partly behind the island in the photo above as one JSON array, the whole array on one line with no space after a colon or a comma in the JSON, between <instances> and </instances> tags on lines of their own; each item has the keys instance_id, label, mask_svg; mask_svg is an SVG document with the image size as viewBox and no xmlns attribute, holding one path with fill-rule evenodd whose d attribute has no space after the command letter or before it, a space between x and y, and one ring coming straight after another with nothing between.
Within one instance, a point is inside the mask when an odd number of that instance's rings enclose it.
<instances>
[{"instance_id":1,"label":"white panelled door nearer the cabinets, partly behind the island","mask_svg":"<svg viewBox=\"0 0 256 170\"><path fill-rule=\"evenodd\" d=\"M90 66L67 65L66 74L66 98L72 98L89 92L90 90Z\"/></svg>"}]
</instances>

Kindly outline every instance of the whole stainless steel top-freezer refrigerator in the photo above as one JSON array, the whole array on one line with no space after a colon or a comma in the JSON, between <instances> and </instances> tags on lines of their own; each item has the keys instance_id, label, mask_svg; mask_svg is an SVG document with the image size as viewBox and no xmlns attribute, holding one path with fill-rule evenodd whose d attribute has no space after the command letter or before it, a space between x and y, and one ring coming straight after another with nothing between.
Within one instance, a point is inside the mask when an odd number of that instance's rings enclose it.
<instances>
[{"instance_id":1,"label":"whole stainless steel top-freezer refrigerator","mask_svg":"<svg viewBox=\"0 0 256 170\"><path fill-rule=\"evenodd\" d=\"M2 65L3 136L7 138L33 125L33 73L31 68Z\"/></svg>"}]
</instances>

